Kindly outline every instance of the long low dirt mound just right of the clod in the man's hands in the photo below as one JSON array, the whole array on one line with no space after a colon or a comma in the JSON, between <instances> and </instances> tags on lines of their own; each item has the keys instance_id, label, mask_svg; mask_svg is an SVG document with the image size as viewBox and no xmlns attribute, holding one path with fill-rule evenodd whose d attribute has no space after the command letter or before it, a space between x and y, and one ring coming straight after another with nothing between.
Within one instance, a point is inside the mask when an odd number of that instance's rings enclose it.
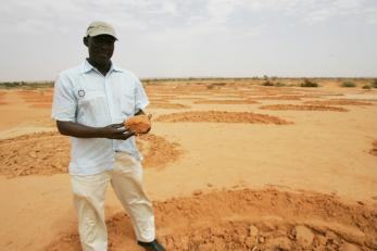
<instances>
[{"instance_id":1,"label":"long low dirt mound just right of the clod in the man's hands","mask_svg":"<svg viewBox=\"0 0 377 251\"><path fill-rule=\"evenodd\" d=\"M292 124L277 116L256 114L251 112L181 112L161 115L155 118L158 122L214 122L214 123L261 123L287 125Z\"/></svg>"}]
</instances>

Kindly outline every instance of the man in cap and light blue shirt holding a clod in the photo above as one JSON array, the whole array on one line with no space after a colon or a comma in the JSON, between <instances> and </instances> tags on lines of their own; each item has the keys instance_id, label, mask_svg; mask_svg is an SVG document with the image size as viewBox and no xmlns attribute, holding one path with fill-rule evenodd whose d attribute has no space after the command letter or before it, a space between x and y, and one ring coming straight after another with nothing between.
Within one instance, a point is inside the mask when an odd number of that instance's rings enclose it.
<instances>
[{"instance_id":1,"label":"man in cap and light blue shirt holding a clod","mask_svg":"<svg viewBox=\"0 0 377 251\"><path fill-rule=\"evenodd\" d=\"M149 101L139 79L111 62L116 40L110 24L89 25L84 37L89 58L59 74L52 117L59 131L71 136L70 174L83 250L108 249L104 194L111 183L131 218L138 244L162 251L152 205L142 189L135 134L123 124L144 114Z\"/></svg>"}]
</instances>

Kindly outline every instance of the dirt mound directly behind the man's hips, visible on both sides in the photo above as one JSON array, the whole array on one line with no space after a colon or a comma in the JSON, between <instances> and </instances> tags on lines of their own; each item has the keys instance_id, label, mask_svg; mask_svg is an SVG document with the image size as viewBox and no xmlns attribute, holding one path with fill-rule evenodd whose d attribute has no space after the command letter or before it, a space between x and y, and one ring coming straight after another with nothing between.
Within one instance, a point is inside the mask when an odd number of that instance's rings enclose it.
<instances>
[{"instance_id":1,"label":"dirt mound directly behind the man's hips, visible on both sides","mask_svg":"<svg viewBox=\"0 0 377 251\"><path fill-rule=\"evenodd\" d=\"M162 167L179 158L177 142L155 135L137 138L144 167ZM0 140L0 175L53 175L68 172L70 139L58 133L39 133Z\"/></svg>"}]
</instances>

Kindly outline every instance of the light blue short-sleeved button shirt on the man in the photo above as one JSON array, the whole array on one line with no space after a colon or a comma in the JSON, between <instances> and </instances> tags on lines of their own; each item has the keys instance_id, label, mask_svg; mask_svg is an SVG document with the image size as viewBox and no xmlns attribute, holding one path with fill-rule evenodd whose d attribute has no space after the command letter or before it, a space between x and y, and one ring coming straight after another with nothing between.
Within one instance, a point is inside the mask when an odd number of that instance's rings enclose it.
<instances>
[{"instance_id":1,"label":"light blue short-sleeved button shirt on the man","mask_svg":"<svg viewBox=\"0 0 377 251\"><path fill-rule=\"evenodd\" d=\"M114 65L103 76L87 61L59 74L52 118L103 127L122 123L149 104L140 80ZM127 140L71 137L70 174L92 175L113 168L115 152L141 155L135 137Z\"/></svg>"}]
</instances>

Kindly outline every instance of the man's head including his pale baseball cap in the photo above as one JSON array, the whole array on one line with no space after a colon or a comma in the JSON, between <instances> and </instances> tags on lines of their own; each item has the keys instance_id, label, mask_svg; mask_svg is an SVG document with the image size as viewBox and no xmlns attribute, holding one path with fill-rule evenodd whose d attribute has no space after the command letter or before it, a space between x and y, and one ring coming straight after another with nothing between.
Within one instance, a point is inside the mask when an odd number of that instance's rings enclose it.
<instances>
[{"instance_id":1,"label":"man's head including his pale baseball cap","mask_svg":"<svg viewBox=\"0 0 377 251\"><path fill-rule=\"evenodd\" d=\"M89 60L97 66L108 65L117 40L114 28L104 22L92 22L87 28L84 45L88 47Z\"/></svg>"}]
</instances>

